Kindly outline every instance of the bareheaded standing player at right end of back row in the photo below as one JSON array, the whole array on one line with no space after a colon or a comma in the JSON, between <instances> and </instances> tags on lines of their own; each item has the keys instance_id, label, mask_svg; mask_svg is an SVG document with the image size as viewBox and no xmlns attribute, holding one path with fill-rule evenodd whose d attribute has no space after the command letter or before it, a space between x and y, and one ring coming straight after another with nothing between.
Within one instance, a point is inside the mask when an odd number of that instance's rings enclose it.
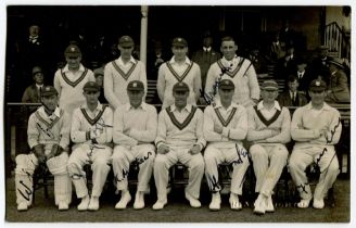
<instances>
[{"instance_id":1,"label":"bareheaded standing player at right end of back row","mask_svg":"<svg viewBox=\"0 0 356 228\"><path fill-rule=\"evenodd\" d=\"M223 58L214 63L206 77L205 97L218 100L218 86L221 79L230 79L234 84L233 103L250 106L259 99L259 85L255 68L250 60L238 56L238 46L232 37L221 39ZM211 103L214 102L209 101Z\"/></svg>"}]
</instances>

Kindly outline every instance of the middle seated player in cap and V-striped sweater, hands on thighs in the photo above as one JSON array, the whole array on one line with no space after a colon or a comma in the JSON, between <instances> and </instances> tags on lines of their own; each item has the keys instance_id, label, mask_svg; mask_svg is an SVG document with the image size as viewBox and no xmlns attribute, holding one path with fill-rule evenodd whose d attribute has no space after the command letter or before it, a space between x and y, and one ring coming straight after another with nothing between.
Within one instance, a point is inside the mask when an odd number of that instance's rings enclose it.
<instances>
[{"instance_id":1,"label":"middle seated player in cap and V-striped sweater, hands on thighs","mask_svg":"<svg viewBox=\"0 0 356 228\"><path fill-rule=\"evenodd\" d=\"M163 109L158 115L155 139L157 155L153 168L157 202L153 210L162 210L167 204L168 173L177 162L188 166L189 170L186 199L192 207L201 207L199 197L204 175L201 151L206 142L203 136L203 112L188 103L189 90L186 83L176 83L173 86L175 103Z\"/></svg>"}]
</instances>

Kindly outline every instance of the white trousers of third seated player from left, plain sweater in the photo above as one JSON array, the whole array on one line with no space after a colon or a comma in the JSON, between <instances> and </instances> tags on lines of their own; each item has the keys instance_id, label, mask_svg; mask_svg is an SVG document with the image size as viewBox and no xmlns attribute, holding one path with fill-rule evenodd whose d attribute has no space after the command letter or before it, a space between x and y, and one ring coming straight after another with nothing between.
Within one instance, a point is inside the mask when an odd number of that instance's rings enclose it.
<instances>
[{"instance_id":1,"label":"white trousers of third seated player from left, plain sweater","mask_svg":"<svg viewBox=\"0 0 356 228\"><path fill-rule=\"evenodd\" d=\"M127 177L130 164L134 162L139 167L137 190L149 191L154 156L153 144L139 144L130 149L124 145L116 145L112 156L112 164L117 190L128 189Z\"/></svg>"}]
</instances>

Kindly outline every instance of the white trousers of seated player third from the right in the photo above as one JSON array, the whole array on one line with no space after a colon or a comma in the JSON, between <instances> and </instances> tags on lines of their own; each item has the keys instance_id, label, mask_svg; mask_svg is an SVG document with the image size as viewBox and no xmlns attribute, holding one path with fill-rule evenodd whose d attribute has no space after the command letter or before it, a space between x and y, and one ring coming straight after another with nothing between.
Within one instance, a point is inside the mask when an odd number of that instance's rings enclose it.
<instances>
[{"instance_id":1,"label":"white trousers of seated player third from the right","mask_svg":"<svg viewBox=\"0 0 356 228\"><path fill-rule=\"evenodd\" d=\"M232 164L233 167L230 191L236 194L242 194L245 173L250 165L247 151L242 145L216 148L214 144L208 144L204 152L204 161L206 167L205 177L211 192L221 191L218 165L227 163Z\"/></svg>"}]
</instances>

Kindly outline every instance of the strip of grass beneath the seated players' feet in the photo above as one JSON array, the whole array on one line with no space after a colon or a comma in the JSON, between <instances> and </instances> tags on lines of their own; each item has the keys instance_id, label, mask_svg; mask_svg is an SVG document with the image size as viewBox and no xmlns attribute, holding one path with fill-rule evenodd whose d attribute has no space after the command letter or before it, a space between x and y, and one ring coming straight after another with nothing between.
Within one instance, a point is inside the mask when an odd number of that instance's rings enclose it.
<instances>
[{"instance_id":1,"label":"strip of grass beneath the seated players' feet","mask_svg":"<svg viewBox=\"0 0 356 228\"><path fill-rule=\"evenodd\" d=\"M192 208L183 197L183 190L174 189L168 197L168 204L163 211L153 211L155 195L147 195L147 207L140 211L132 208L132 201L128 208L115 211L118 195L109 194L101 199L98 212L78 212L78 200L74 197L71 208L59 212L54 206L53 192L50 188L50 198L44 199L43 190L36 191L35 205L27 212L17 212L14 178L7 179L5 220L16 223L29 221L69 221L69 223L349 223L351 219L351 190L349 180L338 179L334 186L335 206L326 205L323 210L313 207L301 210L296 207L276 207L275 213L264 216L253 214L252 207L244 207L240 212L231 211L228 195L223 195L221 210L208 210L209 195L202 193L202 207ZM204 189L203 189L204 190ZM132 193L132 197L135 194Z\"/></svg>"}]
</instances>

